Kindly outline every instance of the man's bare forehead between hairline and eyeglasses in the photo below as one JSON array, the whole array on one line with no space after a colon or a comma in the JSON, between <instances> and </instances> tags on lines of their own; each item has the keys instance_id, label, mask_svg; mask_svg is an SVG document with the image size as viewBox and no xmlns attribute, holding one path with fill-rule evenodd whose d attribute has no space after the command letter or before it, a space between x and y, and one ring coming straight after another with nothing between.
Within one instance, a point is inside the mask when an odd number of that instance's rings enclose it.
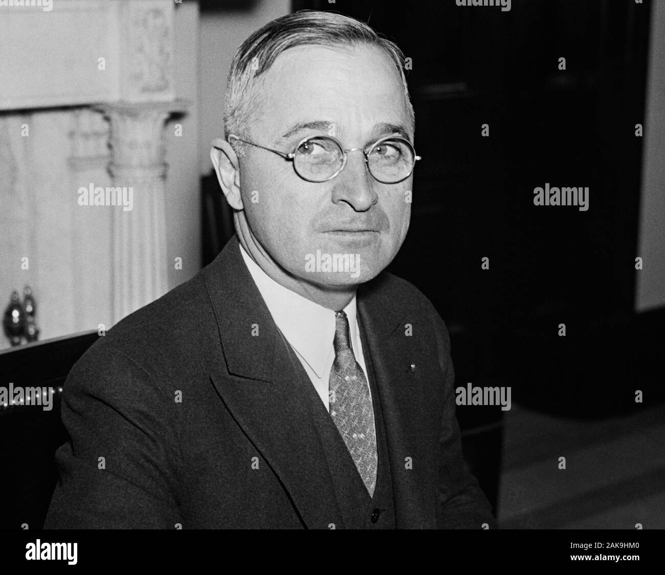
<instances>
[{"instance_id":1,"label":"man's bare forehead between hairline and eyeglasses","mask_svg":"<svg viewBox=\"0 0 665 575\"><path fill-rule=\"evenodd\" d=\"M261 92L261 128L275 139L308 128L333 136L360 128L411 131L400 75L375 46L289 49L265 74Z\"/></svg>"}]
</instances>

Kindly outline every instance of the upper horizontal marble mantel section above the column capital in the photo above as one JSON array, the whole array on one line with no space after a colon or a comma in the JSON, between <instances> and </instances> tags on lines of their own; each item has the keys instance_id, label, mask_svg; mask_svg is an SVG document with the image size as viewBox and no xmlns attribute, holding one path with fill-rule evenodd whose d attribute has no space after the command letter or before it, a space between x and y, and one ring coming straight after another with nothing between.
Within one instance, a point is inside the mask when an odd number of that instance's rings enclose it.
<instances>
[{"instance_id":1,"label":"upper horizontal marble mantel section above the column capital","mask_svg":"<svg viewBox=\"0 0 665 575\"><path fill-rule=\"evenodd\" d=\"M174 100L173 0L0 7L0 110Z\"/></svg>"}]
</instances>

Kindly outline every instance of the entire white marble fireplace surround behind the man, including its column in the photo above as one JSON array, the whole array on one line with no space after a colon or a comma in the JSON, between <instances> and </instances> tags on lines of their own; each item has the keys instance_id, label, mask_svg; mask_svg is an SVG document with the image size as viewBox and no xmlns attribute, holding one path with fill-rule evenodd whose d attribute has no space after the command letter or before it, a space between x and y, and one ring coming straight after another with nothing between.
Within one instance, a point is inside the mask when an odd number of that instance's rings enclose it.
<instances>
[{"instance_id":1,"label":"entire white marble fireplace surround behind the man, including its column","mask_svg":"<svg viewBox=\"0 0 665 575\"><path fill-rule=\"evenodd\" d=\"M0 305L31 284L41 339L108 328L168 291L165 122L189 104L174 89L174 10L0 5ZM90 185L133 188L132 210L81 206Z\"/></svg>"}]
</instances>

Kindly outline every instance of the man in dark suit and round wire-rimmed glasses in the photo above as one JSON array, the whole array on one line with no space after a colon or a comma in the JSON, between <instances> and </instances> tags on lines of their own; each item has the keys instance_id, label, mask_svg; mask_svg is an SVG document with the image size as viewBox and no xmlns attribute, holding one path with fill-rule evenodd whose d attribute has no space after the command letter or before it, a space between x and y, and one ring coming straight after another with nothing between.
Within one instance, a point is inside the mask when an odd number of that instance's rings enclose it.
<instances>
[{"instance_id":1,"label":"man in dark suit and round wire-rimmed glasses","mask_svg":"<svg viewBox=\"0 0 665 575\"><path fill-rule=\"evenodd\" d=\"M72 369L47 528L495 526L446 326L382 271L417 159L402 60L324 12L241 45L211 150L236 235Z\"/></svg>"}]
</instances>

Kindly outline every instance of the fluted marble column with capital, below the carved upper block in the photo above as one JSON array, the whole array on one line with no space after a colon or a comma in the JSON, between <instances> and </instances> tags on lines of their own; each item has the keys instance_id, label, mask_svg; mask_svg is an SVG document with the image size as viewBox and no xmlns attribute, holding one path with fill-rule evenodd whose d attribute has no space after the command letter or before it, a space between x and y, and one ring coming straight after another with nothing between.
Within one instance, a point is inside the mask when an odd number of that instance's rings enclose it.
<instances>
[{"instance_id":1,"label":"fluted marble column with capital, below the carved upper block","mask_svg":"<svg viewBox=\"0 0 665 575\"><path fill-rule=\"evenodd\" d=\"M113 186L123 188L124 198L112 221L114 323L168 291L164 122L184 105L99 106L110 119Z\"/></svg>"}]
</instances>

